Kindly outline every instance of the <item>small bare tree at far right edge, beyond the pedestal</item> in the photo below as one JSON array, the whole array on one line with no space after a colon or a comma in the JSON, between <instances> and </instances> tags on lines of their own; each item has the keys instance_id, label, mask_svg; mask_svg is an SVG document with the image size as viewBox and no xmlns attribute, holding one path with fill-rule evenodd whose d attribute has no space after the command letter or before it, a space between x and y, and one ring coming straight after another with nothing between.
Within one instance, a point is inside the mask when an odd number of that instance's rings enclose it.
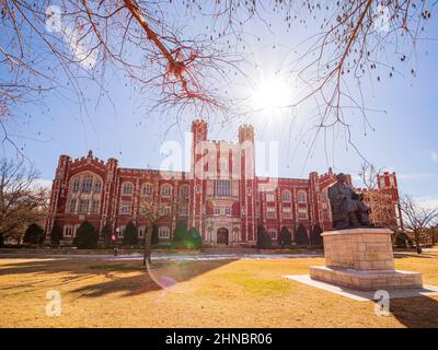
<instances>
[{"instance_id":1,"label":"small bare tree at far right edge, beyond the pedestal","mask_svg":"<svg viewBox=\"0 0 438 350\"><path fill-rule=\"evenodd\" d=\"M438 209L429 209L418 205L411 196L404 196L401 200L405 228L414 234L417 253L422 253L419 246L422 235L434 224L438 218Z\"/></svg>"}]
</instances>

